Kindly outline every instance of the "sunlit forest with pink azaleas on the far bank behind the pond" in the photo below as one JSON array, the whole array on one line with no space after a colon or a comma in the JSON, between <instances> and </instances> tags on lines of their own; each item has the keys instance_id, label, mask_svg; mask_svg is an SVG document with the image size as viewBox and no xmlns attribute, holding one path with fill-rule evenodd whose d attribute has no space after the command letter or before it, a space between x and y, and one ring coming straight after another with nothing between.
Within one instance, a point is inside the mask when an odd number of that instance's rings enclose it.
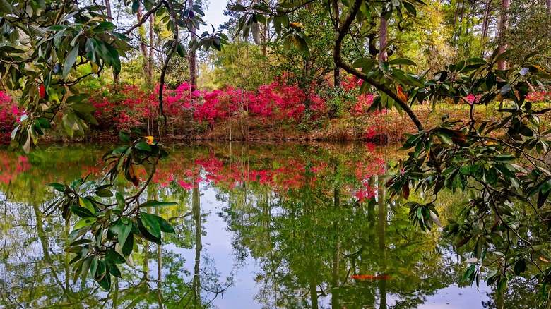
<instances>
[{"instance_id":1,"label":"sunlit forest with pink azaleas on the far bank behind the pond","mask_svg":"<svg viewBox=\"0 0 551 309\"><path fill-rule=\"evenodd\" d=\"M89 139L116 137L121 129L140 128L150 135L156 132L159 105L156 81L167 62L165 49L172 35L167 28L166 13L146 16L141 25L133 27L143 19L145 8L138 6L134 10L116 1L99 4L105 5L107 15L113 16L114 30L128 32L131 48L122 58L120 73L113 73L112 68L99 72L101 69L90 63L77 63L76 69L64 72L78 80L81 92L90 94L97 122L71 128L70 120L59 112L52 119L54 130L48 133L51 139L66 139L75 131L81 138ZM254 3L238 1L228 3L227 7L251 4ZM191 12L201 11L197 4L194 8L193 5ZM490 59L494 50L506 47L509 52L502 61L504 66L506 61L519 63L526 54L538 52L533 61L543 68L550 67L549 0L511 4L491 0L427 1L426 5L408 5L407 11L415 12L416 16L401 13L400 18L391 18L382 26L380 16L373 16L370 23L357 29L357 34L346 37L345 57L352 61L377 56L384 47L390 63L398 64L405 73L433 78L447 63ZM167 137L386 141L401 139L402 133L415 133L413 123L404 121L398 111L373 108L370 112L377 92L360 95L362 83L336 68L328 52L335 30L331 15L322 10L313 3L293 12L301 23L290 26L307 30L304 37L311 43L307 45L300 37L282 44L272 24L258 23L258 29L242 35L238 33L242 13L229 9L225 11L229 20L221 25L228 42L221 48L219 42L220 51L214 46L198 52L189 49L193 34L187 29L180 30L179 57L167 62L165 76ZM199 23L201 20L196 26ZM410 59L415 66L401 59ZM100 78L97 73L102 73ZM526 99L535 107L549 107L548 87L531 85ZM415 94L406 91L405 95ZM0 91L0 131L4 141L10 139L14 125L25 113L19 104L20 97L20 91ZM462 103L477 99L468 95L436 104L436 100L418 97L413 109L425 126L432 128L446 115L467 119L468 105ZM496 101L477 112L495 119L495 111L501 104ZM545 128L549 119L542 118Z\"/></svg>"}]
</instances>

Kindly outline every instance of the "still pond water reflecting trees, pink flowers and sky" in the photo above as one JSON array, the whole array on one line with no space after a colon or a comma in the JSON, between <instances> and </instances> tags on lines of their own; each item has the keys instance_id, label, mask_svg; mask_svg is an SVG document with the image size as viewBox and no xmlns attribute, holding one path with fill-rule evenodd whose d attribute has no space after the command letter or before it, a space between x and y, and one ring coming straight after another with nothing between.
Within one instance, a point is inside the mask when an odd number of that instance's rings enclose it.
<instances>
[{"instance_id":1,"label":"still pond water reflecting trees, pink flowers and sky","mask_svg":"<svg viewBox=\"0 0 551 309\"><path fill-rule=\"evenodd\" d=\"M504 296L462 281L470 256L389 202L385 174L403 154L369 144L174 145L146 195L178 202L153 210L176 233L140 246L111 291L75 281L75 222L45 215L55 193L43 185L99 175L107 149L0 152L0 308L535 307L528 279ZM440 196L443 223L461 199Z\"/></svg>"}]
</instances>

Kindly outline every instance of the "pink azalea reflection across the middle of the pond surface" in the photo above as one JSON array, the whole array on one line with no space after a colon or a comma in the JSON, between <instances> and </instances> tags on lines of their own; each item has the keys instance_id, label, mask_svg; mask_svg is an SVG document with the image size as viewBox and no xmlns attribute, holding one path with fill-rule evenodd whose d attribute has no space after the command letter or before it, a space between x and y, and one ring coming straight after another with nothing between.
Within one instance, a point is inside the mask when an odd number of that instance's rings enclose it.
<instances>
[{"instance_id":1,"label":"pink azalea reflection across the middle of the pond surface","mask_svg":"<svg viewBox=\"0 0 551 309\"><path fill-rule=\"evenodd\" d=\"M367 145L367 150L372 154L369 160L345 162L346 173L355 176L355 179L343 186L343 193L355 197L358 202L377 195L377 188L374 186L372 177L384 174L386 164L374 147ZM170 166L160 169L159 174L166 177L168 173L174 176L172 180L184 188L192 190L196 183L213 183L227 190L241 188L244 183L257 183L259 186L267 186L274 192L285 195L290 190L300 188L325 188L326 181L331 181L334 173L333 168L328 168L328 162L323 160L302 161L301 159L277 159L275 162L255 160L251 162L228 162L218 158L213 152L208 156L200 155L191 166L182 166L182 160L174 159ZM274 167L277 166L277 167ZM155 178L157 179L157 178ZM159 179L161 183L163 178ZM172 181L171 180L171 181ZM157 181L156 181L157 182ZM250 186L250 185L249 185ZM325 189L322 189L325 190Z\"/></svg>"}]
</instances>

